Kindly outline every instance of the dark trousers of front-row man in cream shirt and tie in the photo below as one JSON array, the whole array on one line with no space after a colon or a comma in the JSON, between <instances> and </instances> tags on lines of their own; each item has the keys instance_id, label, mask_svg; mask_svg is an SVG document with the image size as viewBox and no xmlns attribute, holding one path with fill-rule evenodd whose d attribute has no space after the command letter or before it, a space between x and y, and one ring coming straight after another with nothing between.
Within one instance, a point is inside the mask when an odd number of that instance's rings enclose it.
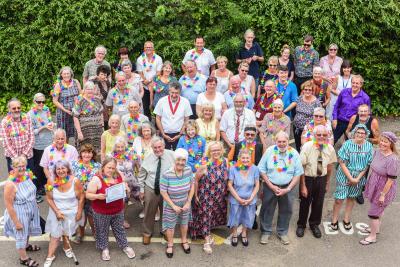
<instances>
[{"instance_id":1,"label":"dark trousers of front-row man in cream shirt and tie","mask_svg":"<svg viewBox=\"0 0 400 267\"><path fill-rule=\"evenodd\" d=\"M305 183L308 191L307 197L300 197L299 220L297 227L306 228L307 219L310 227L321 224L322 208L324 206L326 176L323 177L305 177ZM308 217L311 206L311 214Z\"/></svg>"}]
</instances>

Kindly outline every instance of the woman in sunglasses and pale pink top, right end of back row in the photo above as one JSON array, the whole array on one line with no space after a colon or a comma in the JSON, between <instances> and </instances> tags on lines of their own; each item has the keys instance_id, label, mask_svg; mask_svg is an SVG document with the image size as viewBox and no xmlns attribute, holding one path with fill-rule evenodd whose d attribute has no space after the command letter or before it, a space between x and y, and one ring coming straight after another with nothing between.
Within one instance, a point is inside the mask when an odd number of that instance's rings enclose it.
<instances>
[{"instance_id":1,"label":"woman in sunglasses and pale pink top, right end of back row","mask_svg":"<svg viewBox=\"0 0 400 267\"><path fill-rule=\"evenodd\" d=\"M340 66L343 59L337 56L337 44L330 44L328 48L328 55L321 57L319 65L324 73L324 79L333 84L336 82L337 76L340 74Z\"/></svg>"}]
</instances>

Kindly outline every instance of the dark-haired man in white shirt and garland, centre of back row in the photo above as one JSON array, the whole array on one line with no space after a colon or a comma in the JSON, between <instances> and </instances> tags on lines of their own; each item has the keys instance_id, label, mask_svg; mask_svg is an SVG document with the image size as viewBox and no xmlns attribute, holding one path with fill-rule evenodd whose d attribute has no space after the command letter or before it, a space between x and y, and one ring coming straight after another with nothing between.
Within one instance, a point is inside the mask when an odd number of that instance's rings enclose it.
<instances>
[{"instance_id":1,"label":"dark-haired man in white shirt and garland, centre of back row","mask_svg":"<svg viewBox=\"0 0 400 267\"><path fill-rule=\"evenodd\" d=\"M195 48L186 52L185 57L182 61L182 70L187 71L186 63L188 61L194 61L198 67L201 74L208 77L210 73L215 70L216 61L213 53L204 48L206 42L202 36L197 36L194 40Z\"/></svg>"}]
</instances>

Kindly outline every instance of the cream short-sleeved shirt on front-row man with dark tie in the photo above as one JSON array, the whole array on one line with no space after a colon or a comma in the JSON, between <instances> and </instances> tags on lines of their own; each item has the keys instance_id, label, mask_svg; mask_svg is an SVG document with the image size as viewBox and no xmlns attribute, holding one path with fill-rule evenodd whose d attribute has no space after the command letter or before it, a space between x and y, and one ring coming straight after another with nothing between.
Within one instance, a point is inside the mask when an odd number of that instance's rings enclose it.
<instances>
[{"instance_id":1,"label":"cream short-sleeved shirt on front-row man with dark tie","mask_svg":"<svg viewBox=\"0 0 400 267\"><path fill-rule=\"evenodd\" d=\"M318 158L320 150L316 147L313 141L309 141L303 145L300 151L301 163L304 166L305 176L317 177ZM322 149L322 173L321 176L327 174L328 164L337 162L335 149L331 144L327 144Z\"/></svg>"}]
</instances>

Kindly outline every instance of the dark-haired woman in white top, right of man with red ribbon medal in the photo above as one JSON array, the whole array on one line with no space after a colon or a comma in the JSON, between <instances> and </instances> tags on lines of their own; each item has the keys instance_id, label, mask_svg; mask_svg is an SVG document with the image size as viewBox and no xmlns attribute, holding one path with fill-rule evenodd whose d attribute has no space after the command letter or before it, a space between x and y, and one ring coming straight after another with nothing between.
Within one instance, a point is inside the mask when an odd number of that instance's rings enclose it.
<instances>
[{"instance_id":1,"label":"dark-haired woman in white top, right of man with red ribbon medal","mask_svg":"<svg viewBox=\"0 0 400 267\"><path fill-rule=\"evenodd\" d=\"M222 114L224 114L227 109L224 95L216 91L217 79L215 77L209 77L206 81L206 91L200 93L197 97L196 102L196 113L200 113L201 106L205 103L211 103L215 109L215 118L217 120L221 119Z\"/></svg>"}]
</instances>

